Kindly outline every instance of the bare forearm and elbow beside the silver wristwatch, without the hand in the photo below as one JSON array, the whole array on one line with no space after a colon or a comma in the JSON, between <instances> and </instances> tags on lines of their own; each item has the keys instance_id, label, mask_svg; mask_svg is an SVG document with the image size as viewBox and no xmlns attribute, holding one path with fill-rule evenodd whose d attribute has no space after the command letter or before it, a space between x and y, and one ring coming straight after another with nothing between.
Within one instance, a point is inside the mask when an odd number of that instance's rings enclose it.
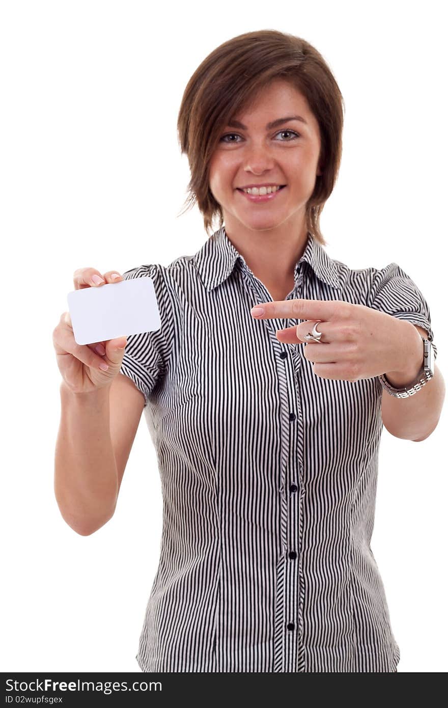
<instances>
[{"instance_id":1,"label":"bare forearm and elbow beside the silver wristwatch, without the hand","mask_svg":"<svg viewBox=\"0 0 448 708\"><path fill-rule=\"evenodd\" d=\"M395 387L410 386L418 377L423 362L423 343L420 334L410 324L408 346L404 348L404 360L408 367L396 372L386 372L386 378ZM400 399L386 390L381 398L381 418L391 435L403 440L420 441L427 438L437 427L445 396L442 373L435 365L434 376L420 391Z\"/></svg>"}]
</instances>

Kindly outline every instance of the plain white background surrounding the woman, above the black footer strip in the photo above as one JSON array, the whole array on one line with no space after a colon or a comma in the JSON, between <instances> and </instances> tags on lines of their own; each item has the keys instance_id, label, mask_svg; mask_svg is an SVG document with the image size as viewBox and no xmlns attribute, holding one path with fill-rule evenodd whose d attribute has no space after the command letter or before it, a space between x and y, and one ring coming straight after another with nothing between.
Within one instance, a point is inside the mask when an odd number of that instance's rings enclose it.
<instances>
[{"instance_id":1,"label":"plain white background surrounding the woman, above the black footer strip","mask_svg":"<svg viewBox=\"0 0 448 708\"><path fill-rule=\"evenodd\" d=\"M447 55L442 3L4 1L0 11L1 670L139 671L159 561L161 489L144 416L114 517L77 535L54 498L52 331L76 268L168 265L205 243L183 208L176 120L209 52L276 29L311 42L346 105L321 217L351 268L395 261L430 305L446 369ZM372 550L399 672L448 668L447 416L423 442L384 428Z\"/></svg>"}]
</instances>

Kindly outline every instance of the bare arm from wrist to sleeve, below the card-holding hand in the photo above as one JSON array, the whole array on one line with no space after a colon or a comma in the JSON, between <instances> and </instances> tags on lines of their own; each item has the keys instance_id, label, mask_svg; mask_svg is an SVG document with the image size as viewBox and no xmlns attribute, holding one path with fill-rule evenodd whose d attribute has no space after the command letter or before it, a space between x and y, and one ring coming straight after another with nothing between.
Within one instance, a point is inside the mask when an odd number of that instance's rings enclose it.
<instances>
[{"instance_id":1,"label":"bare arm from wrist to sleeve, below the card-holding hand","mask_svg":"<svg viewBox=\"0 0 448 708\"><path fill-rule=\"evenodd\" d=\"M64 383L60 393L54 494L64 520L87 536L115 512L144 396L121 373L92 394L73 394Z\"/></svg>"}]
</instances>

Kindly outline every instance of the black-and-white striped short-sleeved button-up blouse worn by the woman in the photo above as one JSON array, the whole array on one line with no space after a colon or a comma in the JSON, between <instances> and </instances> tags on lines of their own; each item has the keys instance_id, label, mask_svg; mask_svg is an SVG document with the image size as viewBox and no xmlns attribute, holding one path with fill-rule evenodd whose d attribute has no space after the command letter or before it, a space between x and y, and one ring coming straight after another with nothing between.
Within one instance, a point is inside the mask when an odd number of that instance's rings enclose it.
<instances>
[{"instance_id":1,"label":"black-and-white striped short-sleeved button-up blouse worn by the woman","mask_svg":"<svg viewBox=\"0 0 448 708\"><path fill-rule=\"evenodd\" d=\"M272 297L225 227L195 256L123 278L142 276L161 329L127 338L121 372L145 397L163 528L139 667L394 672L370 547L379 378L318 377L301 346L275 336L298 320L253 319ZM310 234L285 299L295 298L364 304L433 340L427 302L396 263L353 270Z\"/></svg>"}]
</instances>

